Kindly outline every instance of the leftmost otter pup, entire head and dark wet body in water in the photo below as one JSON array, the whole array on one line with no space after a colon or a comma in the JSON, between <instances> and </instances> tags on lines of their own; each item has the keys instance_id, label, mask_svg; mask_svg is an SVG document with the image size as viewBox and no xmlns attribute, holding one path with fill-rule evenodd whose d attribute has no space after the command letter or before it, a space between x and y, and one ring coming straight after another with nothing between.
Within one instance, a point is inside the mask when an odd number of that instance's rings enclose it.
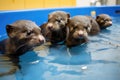
<instances>
[{"instance_id":1,"label":"leftmost otter pup, entire head and dark wet body in water","mask_svg":"<svg viewBox=\"0 0 120 80\"><path fill-rule=\"evenodd\" d=\"M0 76L14 73L20 68L19 56L45 42L41 29L29 20L19 20L6 25L6 31L8 38L0 42L0 51L3 52L0 58L3 62L7 58L8 62L12 62L13 68L8 72L0 73Z\"/></svg>"}]
</instances>

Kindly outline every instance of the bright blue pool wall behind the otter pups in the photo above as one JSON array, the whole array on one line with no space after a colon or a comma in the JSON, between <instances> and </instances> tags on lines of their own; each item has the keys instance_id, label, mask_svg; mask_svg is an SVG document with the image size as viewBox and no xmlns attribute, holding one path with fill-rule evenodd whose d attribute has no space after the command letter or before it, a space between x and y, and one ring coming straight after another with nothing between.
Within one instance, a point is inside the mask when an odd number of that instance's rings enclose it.
<instances>
[{"instance_id":1,"label":"bright blue pool wall behind the otter pups","mask_svg":"<svg viewBox=\"0 0 120 80\"><path fill-rule=\"evenodd\" d=\"M96 15L101 13L109 14L110 16L120 16L120 6L102 6L102 7L72 7L72 8L47 8L47 9L32 9L32 10L16 10L16 11L0 11L0 37L6 35L5 27L16 20L32 20L37 25L47 21L48 14L55 10L62 10L74 15L91 15L92 11Z\"/></svg>"}]
</instances>

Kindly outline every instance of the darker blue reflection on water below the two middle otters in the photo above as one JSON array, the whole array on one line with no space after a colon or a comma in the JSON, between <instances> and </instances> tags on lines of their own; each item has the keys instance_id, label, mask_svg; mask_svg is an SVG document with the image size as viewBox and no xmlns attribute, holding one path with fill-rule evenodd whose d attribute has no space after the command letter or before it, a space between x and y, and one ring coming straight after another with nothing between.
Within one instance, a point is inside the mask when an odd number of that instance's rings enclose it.
<instances>
[{"instance_id":1,"label":"darker blue reflection on water below the two middle otters","mask_svg":"<svg viewBox=\"0 0 120 80\"><path fill-rule=\"evenodd\" d=\"M86 50L86 44L69 49L71 56L68 55L67 48L51 48L50 51L55 56L55 59L50 61L52 63L80 65L88 64L91 60L90 54ZM54 52L53 52L54 51ZM79 57L78 57L79 56Z\"/></svg>"}]
</instances>

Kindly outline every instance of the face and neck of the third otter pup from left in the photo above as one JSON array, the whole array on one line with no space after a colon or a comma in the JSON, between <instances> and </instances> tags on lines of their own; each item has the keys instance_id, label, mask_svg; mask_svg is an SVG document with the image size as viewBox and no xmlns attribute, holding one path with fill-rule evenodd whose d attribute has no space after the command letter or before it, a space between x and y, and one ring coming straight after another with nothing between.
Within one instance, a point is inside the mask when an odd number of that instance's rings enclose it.
<instances>
[{"instance_id":1,"label":"face and neck of the third otter pup from left","mask_svg":"<svg viewBox=\"0 0 120 80\"><path fill-rule=\"evenodd\" d=\"M88 41L86 26L87 24L81 23L80 18L77 16L69 19L66 38L66 45L68 47L77 46Z\"/></svg>"}]
</instances>

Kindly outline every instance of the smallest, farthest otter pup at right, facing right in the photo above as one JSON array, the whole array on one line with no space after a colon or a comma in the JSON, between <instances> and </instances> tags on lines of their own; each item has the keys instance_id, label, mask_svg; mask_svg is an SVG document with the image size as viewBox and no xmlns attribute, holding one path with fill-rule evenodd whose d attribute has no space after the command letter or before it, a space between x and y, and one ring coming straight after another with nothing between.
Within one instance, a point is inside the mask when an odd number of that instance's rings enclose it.
<instances>
[{"instance_id":1,"label":"smallest, farthest otter pup at right, facing right","mask_svg":"<svg viewBox=\"0 0 120 80\"><path fill-rule=\"evenodd\" d=\"M112 19L107 14L100 14L96 17L96 21L100 26L100 29L106 29L112 25Z\"/></svg>"}]
</instances>

